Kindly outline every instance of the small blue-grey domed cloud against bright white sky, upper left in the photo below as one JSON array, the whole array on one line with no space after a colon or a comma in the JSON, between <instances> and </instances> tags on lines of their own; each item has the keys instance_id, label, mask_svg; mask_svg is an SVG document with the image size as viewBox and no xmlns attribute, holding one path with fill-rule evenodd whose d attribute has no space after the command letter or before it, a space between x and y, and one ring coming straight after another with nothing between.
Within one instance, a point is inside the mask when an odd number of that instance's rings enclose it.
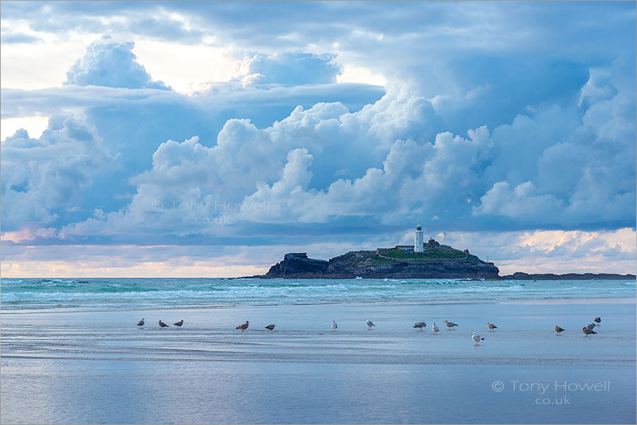
<instances>
[{"instance_id":1,"label":"small blue-grey domed cloud against bright white sky, upper left","mask_svg":"<svg viewBox=\"0 0 637 425\"><path fill-rule=\"evenodd\" d=\"M67 84L169 90L162 81L152 81L132 53L134 43L115 42L108 35L86 48L86 54L67 72Z\"/></svg>"}]
</instances>

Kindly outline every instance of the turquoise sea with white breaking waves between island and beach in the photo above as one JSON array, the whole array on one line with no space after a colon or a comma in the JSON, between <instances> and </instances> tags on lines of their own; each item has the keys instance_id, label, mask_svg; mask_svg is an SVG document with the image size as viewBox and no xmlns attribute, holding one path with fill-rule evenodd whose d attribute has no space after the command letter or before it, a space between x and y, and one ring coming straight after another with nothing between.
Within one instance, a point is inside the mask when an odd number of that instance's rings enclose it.
<instances>
[{"instance_id":1,"label":"turquoise sea with white breaking waves between island and beach","mask_svg":"<svg viewBox=\"0 0 637 425\"><path fill-rule=\"evenodd\" d=\"M633 280L2 279L3 310L449 303L635 296Z\"/></svg>"}]
</instances>

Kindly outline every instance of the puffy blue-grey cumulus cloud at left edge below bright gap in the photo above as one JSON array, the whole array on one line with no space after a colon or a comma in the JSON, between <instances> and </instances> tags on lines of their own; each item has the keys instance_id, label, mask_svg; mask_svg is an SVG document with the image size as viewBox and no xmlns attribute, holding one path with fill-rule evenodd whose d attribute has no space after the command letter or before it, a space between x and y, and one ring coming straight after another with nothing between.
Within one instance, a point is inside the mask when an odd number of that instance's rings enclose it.
<instances>
[{"instance_id":1,"label":"puffy blue-grey cumulus cloud at left edge below bright gap","mask_svg":"<svg viewBox=\"0 0 637 425\"><path fill-rule=\"evenodd\" d=\"M96 175L116 166L96 130L81 119L58 117L51 124L39 139L21 129L2 143L6 230L51 223L84 201Z\"/></svg>"}]
</instances>

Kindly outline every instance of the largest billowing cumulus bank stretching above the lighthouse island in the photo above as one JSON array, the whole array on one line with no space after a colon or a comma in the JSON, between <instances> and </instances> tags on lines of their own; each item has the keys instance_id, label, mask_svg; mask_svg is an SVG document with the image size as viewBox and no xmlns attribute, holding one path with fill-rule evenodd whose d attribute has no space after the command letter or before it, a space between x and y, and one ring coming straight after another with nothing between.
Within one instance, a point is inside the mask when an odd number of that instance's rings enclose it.
<instances>
[{"instance_id":1,"label":"largest billowing cumulus bank stretching above the lighthouse island","mask_svg":"<svg viewBox=\"0 0 637 425\"><path fill-rule=\"evenodd\" d=\"M616 90L619 95L624 88ZM200 139L167 141L154 153L151 170L131 180L137 194L127 211L96 228L115 234L116 222L146 226L154 200L175 199L268 204L265 211L224 211L237 226L360 219L384 226L436 221L449 230L632 223L635 191L629 180L635 167L620 153L631 149L630 142L599 139L595 129L583 126L582 112L547 105L493 133L483 126L466 137L440 132L428 140L435 112L427 100L408 93L402 86L389 88L358 112L339 103L297 107L265 129L229 120L211 147ZM616 148L609 149L609 142ZM343 170L352 177L344 178ZM188 212L164 214L154 226L163 223L166 231L183 235L211 232L195 226ZM97 222L91 219L93 226ZM88 231L77 226L68 234Z\"/></svg>"}]
</instances>

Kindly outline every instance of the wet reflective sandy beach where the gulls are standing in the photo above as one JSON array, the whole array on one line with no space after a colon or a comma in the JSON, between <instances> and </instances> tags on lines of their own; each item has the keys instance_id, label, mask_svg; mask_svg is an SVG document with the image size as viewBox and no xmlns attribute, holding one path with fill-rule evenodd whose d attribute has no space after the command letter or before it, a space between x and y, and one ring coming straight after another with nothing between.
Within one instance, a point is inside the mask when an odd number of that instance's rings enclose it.
<instances>
[{"instance_id":1,"label":"wet reflective sandy beach where the gulls are standing","mask_svg":"<svg viewBox=\"0 0 637 425\"><path fill-rule=\"evenodd\" d=\"M4 310L1 421L629 424L635 318L630 296Z\"/></svg>"}]
</instances>

